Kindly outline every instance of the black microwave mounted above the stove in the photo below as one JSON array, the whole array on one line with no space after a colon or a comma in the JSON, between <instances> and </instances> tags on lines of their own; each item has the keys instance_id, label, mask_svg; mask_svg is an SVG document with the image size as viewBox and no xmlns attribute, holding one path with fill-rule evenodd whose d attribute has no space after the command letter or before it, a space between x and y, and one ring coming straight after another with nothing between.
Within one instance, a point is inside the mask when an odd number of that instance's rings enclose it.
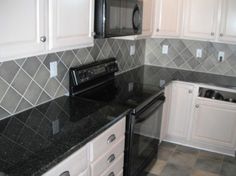
<instances>
[{"instance_id":1,"label":"black microwave mounted above the stove","mask_svg":"<svg viewBox=\"0 0 236 176\"><path fill-rule=\"evenodd\" d=\"M142 0L95 0L95 38L142 33Z\"/></svg>"}]
</instances>

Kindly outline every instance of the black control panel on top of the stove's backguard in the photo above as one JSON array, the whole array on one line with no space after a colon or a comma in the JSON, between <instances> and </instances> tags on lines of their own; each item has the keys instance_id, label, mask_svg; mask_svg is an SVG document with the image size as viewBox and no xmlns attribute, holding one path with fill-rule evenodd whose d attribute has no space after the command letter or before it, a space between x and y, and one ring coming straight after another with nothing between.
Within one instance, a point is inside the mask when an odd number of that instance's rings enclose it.
<instances>
[{"instance_id":1,"label":"black control panel on top of the stove's backguard","mask_svg":"<svg viewBox=\"0 0 236 176\"><path fill-rule=\"evenodd\" d=\"M117 72L118 64L116 61L105 62L101 64L88 65L87 67L81 66L70 70L70 76L73 80L73 84L78 86L79 84L88 82L95 78L99 78L104 75L114 74Z\"/></svg>"}]
</instances>

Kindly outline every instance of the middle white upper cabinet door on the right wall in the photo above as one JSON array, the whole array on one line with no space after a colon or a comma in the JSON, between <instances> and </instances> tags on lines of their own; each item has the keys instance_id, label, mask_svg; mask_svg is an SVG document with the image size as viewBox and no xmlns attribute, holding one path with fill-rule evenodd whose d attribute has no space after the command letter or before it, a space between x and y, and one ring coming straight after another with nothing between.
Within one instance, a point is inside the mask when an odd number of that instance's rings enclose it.
<instances>
[{"instance_id":1,"label":"middle white upper cabinet door on the right wall","mask_svg":"<svg viewBox=\"0 0 236 176\"><path fill-rule=\"evenodd\" d=\"M214 39L219 0L185 0L184 4L184 37Z\"/></svg>"}]
</instances>

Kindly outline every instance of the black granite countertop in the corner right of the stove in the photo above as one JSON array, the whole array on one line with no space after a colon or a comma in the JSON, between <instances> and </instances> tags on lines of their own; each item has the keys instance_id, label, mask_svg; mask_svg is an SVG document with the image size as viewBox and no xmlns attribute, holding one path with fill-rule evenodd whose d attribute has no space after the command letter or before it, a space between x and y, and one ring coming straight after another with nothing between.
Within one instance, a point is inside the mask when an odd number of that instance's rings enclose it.
<instances>
[{"instance_id":1,"label":"black granite countertop in the corner right of the stove","mask_svg":"<svg viewBox=\"0 0 236 176\"><path fill-rule=\"evenodd\" d=\"M163 87L171 81L178 80L191 83L203 83L225 88L236 89L236 77L164 68L157 66L141 66L118 75L120 79Z\"/></svg>"}]
</instances>

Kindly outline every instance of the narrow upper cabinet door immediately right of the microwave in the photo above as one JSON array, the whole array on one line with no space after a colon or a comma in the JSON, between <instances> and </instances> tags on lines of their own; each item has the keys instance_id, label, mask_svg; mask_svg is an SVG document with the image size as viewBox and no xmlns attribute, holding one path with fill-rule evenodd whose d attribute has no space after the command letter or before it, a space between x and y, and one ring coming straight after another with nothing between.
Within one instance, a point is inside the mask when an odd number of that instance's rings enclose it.
<instances>
[{"instance_id":1,"label":"narrow upper cabinet door immediately right of the microwave","mask_svg":"<svg viewBox=\"0 0 236 176\"><path fill-rule=\"evenodd\" d=\"M143 36L152 35L152 21L154 13L154 2L153 0L143 0Z\"/></svg>"}]
</instances>

